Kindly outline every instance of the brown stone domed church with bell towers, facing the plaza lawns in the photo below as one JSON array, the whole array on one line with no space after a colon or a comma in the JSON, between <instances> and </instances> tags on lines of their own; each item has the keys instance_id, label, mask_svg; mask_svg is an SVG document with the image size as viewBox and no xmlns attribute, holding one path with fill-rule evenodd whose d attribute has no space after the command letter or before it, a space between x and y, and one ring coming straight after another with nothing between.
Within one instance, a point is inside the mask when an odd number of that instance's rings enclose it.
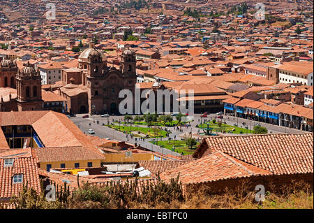
<instances>
[{"instance_id":1,"label":"brown stone domed church with bell towers, facing the plaza lawns","mask_svg":"<svg viewBox=\"0 0 314 223\"><path fill-rule=\"evenodd\" d=\"M119 113L119 92L133 92L137 80L135 52L122 52L119 69L108 67L103 52L94 44L78 57L78 68L63 70L59 95L67 101L68 113ZM78 79L78 80L77 80Z\"/></svg>"}]
</instances>

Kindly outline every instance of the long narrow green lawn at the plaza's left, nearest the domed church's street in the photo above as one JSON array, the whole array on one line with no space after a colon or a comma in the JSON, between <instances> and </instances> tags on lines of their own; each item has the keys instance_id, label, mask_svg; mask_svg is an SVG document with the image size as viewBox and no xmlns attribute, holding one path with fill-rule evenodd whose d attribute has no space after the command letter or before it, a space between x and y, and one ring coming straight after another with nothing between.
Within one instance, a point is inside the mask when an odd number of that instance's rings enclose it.
<instances>
[{"instance_id":1,"label":"long narrow green lawn at the plaza's left, nearest the domed church's street","mask_svg":"<svg viewBox=\"0 0 314 223\"><path fill-rule=\"evenodd\" d=\"M155 138L155 137L160 137L160 136L163 138L167 137L166 136L167 131L163 131L158 128L133 127L133 126L131 127L130 125L129 126L109 125L108 127L112 129L116 129L117 131L128 133L128 134L132 133L132 131L140 131L140 133L148 135L149 138ZM139 135L136 135L136 136L139 136Z\"/></svg>"}]
</instances>

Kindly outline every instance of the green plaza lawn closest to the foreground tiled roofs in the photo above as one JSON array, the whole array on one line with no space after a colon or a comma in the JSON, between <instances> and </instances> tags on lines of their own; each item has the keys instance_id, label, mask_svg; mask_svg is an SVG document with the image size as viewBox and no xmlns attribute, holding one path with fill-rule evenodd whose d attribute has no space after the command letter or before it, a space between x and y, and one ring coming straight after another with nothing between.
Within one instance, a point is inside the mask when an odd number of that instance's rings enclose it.
<instances>
[{"instance_id":1,"label":"green plaza lawn closest to the foreground tiled roofs","mask_svg":"<svg viewBox=\"0 0 314 223\"><path fill-rule=\"evenodd\" d=\"M151 141L151 143L156 145L155 141ZM190 150L188 145L186 145L185 141L179 141L179 140L172 140L172 141L158 141L157 145L160 145L163 148L166 148L168 150L172 150L174 146L174 152L178 152L181 154L181 152L184 153L184 155L193 154L195 152L195 149L200 143L197 143L197 145L193 146L193 149Z\"/></svg>"}]
</instances>

